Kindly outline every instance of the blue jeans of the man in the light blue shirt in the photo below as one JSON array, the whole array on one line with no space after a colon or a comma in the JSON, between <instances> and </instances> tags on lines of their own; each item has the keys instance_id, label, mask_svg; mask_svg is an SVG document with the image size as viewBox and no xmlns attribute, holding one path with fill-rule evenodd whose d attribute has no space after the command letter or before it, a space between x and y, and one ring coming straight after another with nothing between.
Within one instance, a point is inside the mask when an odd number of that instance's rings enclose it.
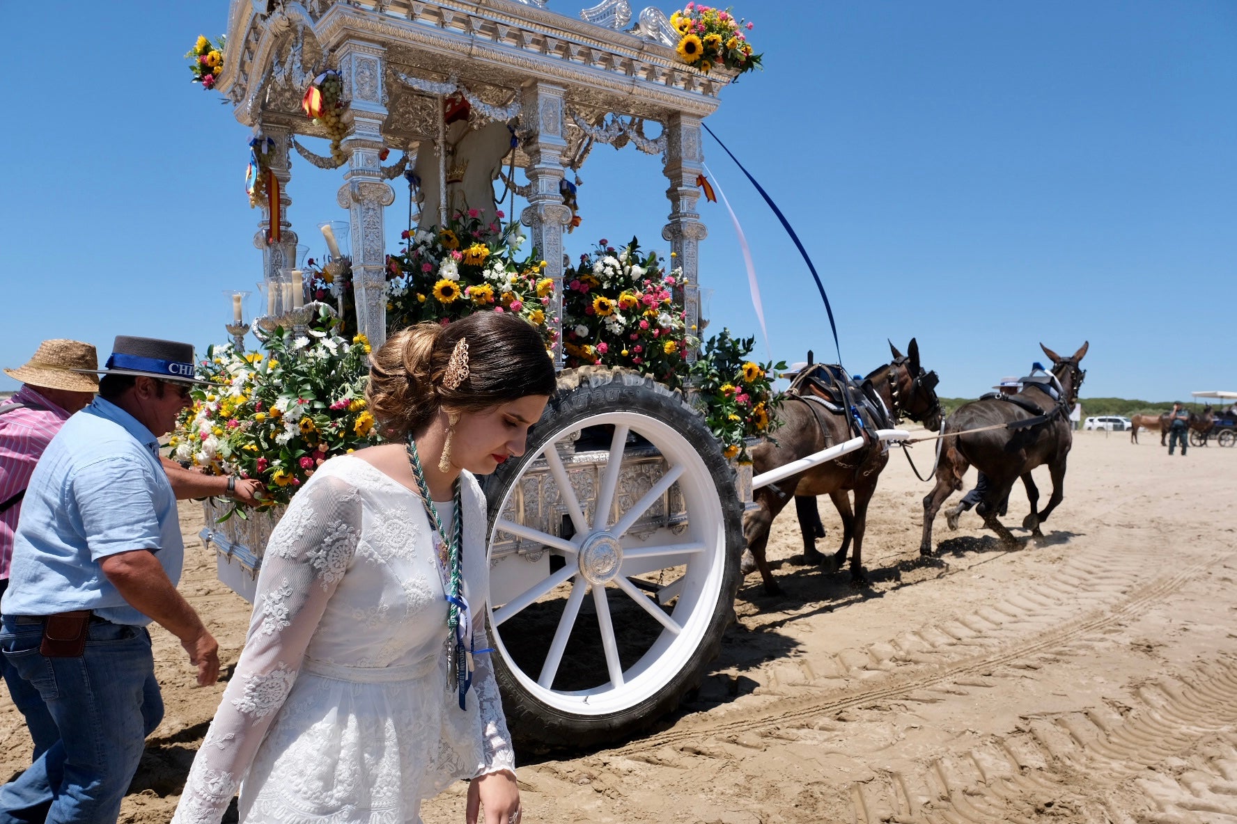
<instances>
[{"instance_id":1,"label":"blue jeans of the man in the light blue shirt","mask_svg":"<svg viewBox=\"0 0 1237 824\"><path fill-rule=\"evenodd\" d=\"M0 788L0 824L115 824L146 736L163 719L150 634L92 621L80 657L48 658L42 631L10 616L0 629L4 656L42 696L59 735Z\"/></svg>"}]
</instances>

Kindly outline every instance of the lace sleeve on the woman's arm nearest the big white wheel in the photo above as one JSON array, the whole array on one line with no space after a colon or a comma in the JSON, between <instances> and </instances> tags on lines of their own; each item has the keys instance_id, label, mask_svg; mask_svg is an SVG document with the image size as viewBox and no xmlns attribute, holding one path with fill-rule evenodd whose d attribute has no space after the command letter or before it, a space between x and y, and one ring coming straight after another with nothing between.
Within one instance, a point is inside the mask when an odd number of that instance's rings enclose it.
<instances>
[{"instance_id":1,"label":"lace sleeve on the woman's arm nearest the big white wheel","mask_svg":"<svg viewBox=\"0 0 1237 824\"><path fill-rule=\"evenodd\" d=\"M473 599L473 649L490 649L490 639L485 631L486 602L490 593L490 565L486 562L486 505L485 495L475 482L470 489L475 488L476 494L473 505L465 510L471 516L466 529L468 541L466 555L479 562L469 565L469 587L474 593ZM471 498L471 497L470 497ZM465 505L469 505L466 503ZM469 540L471 539L471 540ZM473 689L476 692L477 710L481 715L481 752L484 761L476 771L476 776L506 770L511 775L516 773L516 754L511 746L511 733L507 731L507 717L502 712L502 697L499 694L499 683L494 678L492 657L497 652L487 652L475 657L475 671L473 673ZM476 777L474 776L474 777Z\"/></svg>"}]
</instances>

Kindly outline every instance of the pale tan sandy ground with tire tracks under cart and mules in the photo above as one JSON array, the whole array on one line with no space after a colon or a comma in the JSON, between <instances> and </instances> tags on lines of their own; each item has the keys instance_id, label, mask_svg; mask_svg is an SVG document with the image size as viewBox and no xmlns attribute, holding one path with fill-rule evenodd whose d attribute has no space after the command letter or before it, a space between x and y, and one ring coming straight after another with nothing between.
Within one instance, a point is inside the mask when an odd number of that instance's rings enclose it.
<instances>
[{"instance_id":1,"label":"pale tan sandy ground with tire tracks under cart and mules","mask_svg":"<svg viewBox=\"0 0 1237 824\"><path fill-rule=\"evenodd\" d=\"M1237 450L1170 458L1153 441L1076 434L1044 546L1006 550L974 513L956 532L940 516L927 565L928 484L893 456L866 592L794 562L789 508L769 542L784 594L747 577L713 673L656 731L523 759L523 820L1237 823ZM1037 483L1047 497L1047 472ZM840 524L820 503L831 550ZM192 504L182 524L181 589L226 677L249 605L215 579ZM120 818L142 824L171 818L224 688L194 687L176 640L152 635L167 717ZM0 775L17 773L30 739L7 696L0 742ZM427 823L463 817L464 784L424 808Z\"/></svg>"}]
</instances>

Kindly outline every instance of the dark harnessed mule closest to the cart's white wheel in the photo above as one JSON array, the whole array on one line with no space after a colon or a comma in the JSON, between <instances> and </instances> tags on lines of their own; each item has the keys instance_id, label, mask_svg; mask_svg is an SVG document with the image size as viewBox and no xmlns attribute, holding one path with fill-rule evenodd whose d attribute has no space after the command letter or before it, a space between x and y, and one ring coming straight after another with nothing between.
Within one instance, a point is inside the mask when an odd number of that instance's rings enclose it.
<instances>
[{"instance_id":1,"label":"dark harnessed mule closest to the cart's white wheel","mask_svg":"<svg viewBox=\"0 0 1237 824\"><path fill-rule=\"evenodd\" d=\"M919 345L912 338L905 356L892 343L889 350L893 353L893 362L871 372L863 382L871 382L872 389L880 395L894 421L907 416L922 421L928 429L939 427L941 408L935 392L936 373L925 372L919 364ZM799 394L803 382L811 373L808 369L800 373L790 390L783 395L784 401L776 415L783 424L774 436L777 442L766 439L752 451L756 474L776 469L852 437L847 415L833 414ZM836 572L846 562L846 552L854 540L851 581L858 586L866 583L862 546L867 507L876 492L877 477L888 460L887 450L881 444L872 442L841 458L756 490L758 509L743 518L743 537L747 539L747 547L752 552L756 568L761 572L764 592L769 594L781 592L764 556L769 526L790 498L797 495L828 494L842 518L842 545L833 556L818 552L813 536L809 531L804 531L805 561L823 562L830 572ZM855 492L854 510L846 494L849 490Z\"/></svg>"}]
</instances>

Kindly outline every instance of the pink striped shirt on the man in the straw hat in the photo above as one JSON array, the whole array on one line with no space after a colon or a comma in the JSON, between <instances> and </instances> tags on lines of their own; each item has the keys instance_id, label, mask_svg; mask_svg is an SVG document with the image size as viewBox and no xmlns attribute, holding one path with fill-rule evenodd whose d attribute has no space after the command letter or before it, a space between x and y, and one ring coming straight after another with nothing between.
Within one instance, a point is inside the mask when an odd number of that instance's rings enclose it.
<instances>
[{"instance_id":1,"label":"pink striped shirt on the man in the straw hat","mask_svg":"<svg viewBox=\"0 0 1237 824\"><path fill-rule=\"evenodd\" d=\"M61 431L69 414L24 385L7 403L27 404L0 415L0 503L26 488L40 456ZM37 406L37 409L33 409ZM12 561L12 536L17 531L21 502L0 513L0 578L9 577Z\"/></svg>"}]
</instances>

